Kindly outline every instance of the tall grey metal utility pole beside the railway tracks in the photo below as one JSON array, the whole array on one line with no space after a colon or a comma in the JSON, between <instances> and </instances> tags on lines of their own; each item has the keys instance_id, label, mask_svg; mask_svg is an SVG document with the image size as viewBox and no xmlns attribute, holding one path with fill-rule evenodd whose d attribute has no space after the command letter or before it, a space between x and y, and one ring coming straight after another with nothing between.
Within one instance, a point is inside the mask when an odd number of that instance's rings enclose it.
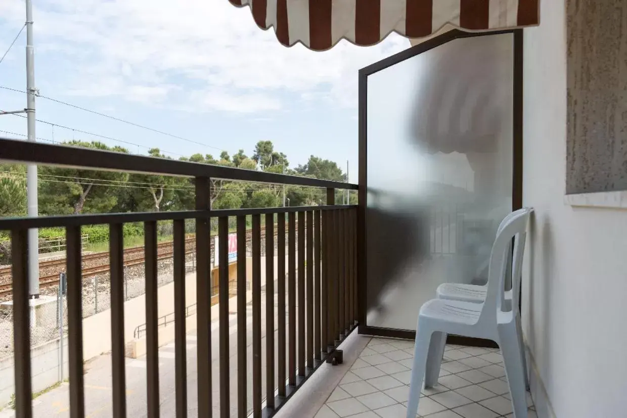
<instances>
[{"instance_id":1,"label":"tall grey metal utility pole beside the railway tracks","mask_svg":"<svg viewBox=\"0 0 627 418\"><path fill-rule=\"evenodd\" d=\"M35 54L33 48L33 4L26 0L26 116L28 140L35 140ZM26 165L26 200L28 216L39 215L37 204L37 166ZM39 298L39 240L38 230L28 230L28 293L31 299Z\"/></svg>"}]
</instances>

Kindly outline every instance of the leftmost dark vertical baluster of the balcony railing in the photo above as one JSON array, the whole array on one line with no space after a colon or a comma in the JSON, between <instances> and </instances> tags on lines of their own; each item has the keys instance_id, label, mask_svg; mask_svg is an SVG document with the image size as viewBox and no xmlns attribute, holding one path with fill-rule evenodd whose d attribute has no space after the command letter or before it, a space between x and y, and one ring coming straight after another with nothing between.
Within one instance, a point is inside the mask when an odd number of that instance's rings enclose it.
<instances>
[{"instance_id":1,"label":"leftmost dark vertical baluster of the balcony railing","mask_svg":"<svg viewBox=\"0 0 627 418\"><path fill-rule=\"evenodd\" d=\"M80 230L80 228L79 228ZM30 312L28 306L28 230L14 229L11 231L11 249L13 273L13 350L14 350L14 379L15 379L15 412L17 417L31 418L33 416L32 385L31 385L31 335ZM69 258L68 258L69 259ZM80 254L78 256L80 260ZM79 269L80 271L80 269ZM79 276L80 277L80 276ZM78 288L81 291L81 288ZM75 291L76 293L76 291ZM69 302L69 300L68 300ZM79 301L80 302L80 301ZM80 303L78 304L80 309ZM81 318L82 319L82 318ZM71 337L70 328L70 337ZM76 329L74 330L76 331ZM80 329L78 329L80 335ZM80 341L81 345L83 341ZM61 347L61 349L63 349ZM82 358L82 355L81 355ZM82 362L81 362L82 363ZM63 365L61 365L63 367ZM71 367L71 358L70 358ZM81 364L82 367L82 364ZM71 370L70 370L71 371ZM82 384L82 381L80 381ZM76 387L73 388L76 392ZM82 395L82 390L80 395ZM83 414L80 405L76 405L79 414ZM72 411L73 412L73 411ZM74 412L76 414L76 412ZM72 415L82 416L82 415Z\"/></svg>"}]
</instances>

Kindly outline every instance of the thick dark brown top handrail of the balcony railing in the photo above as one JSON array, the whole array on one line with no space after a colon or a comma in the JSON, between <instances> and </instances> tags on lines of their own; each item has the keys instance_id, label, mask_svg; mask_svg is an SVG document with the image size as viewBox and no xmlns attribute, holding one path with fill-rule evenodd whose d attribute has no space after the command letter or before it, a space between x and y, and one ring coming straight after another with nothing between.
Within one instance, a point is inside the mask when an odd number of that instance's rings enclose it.
<instances>
[{"instance_id":1,"label":"thick dark brown top handrail of the balcony railing","mask_svg":"<svg viewBox=\"0 0 627 418\"><path fill-rule=\"evenodd\" d=\"M142 174L208 177L210 179L239 180L286 185L307 185L333 189L357 190L357 184L319 180L312 177L277 174L265 171L237 169L222 165L146 157L68 145L41 144L0 137L0 160L12 162L64 165L95 170L115 170Z\"/></svg>"}]
</instances>

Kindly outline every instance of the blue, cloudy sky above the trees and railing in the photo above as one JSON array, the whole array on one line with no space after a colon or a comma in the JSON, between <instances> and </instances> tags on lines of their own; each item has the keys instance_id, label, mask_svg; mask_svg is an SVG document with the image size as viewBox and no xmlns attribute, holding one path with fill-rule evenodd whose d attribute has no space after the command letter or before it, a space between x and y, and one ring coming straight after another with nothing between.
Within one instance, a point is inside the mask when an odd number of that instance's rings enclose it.
<instances>
[{"instance_id":1,"label":"blue, cloudy sky above the trees and railing","mask_svg":"<svg viewBox=\"0 0 627 418\"><path fill-rule=\"evenodd\" d=\"M341 167L348 160L351 182L357 71L409 48L396 34L367 48L347 41L324 52L286 48L273 29L256 26L250 9L228 0L33 0L33 7L41 95L190 141L45 98L36 101L36 117L57 126L37 123L38 138L101 140L140 154L157 147L175 158L238 149L250 156L256 142L271 140L292 167L312 154ZM0 56L24 20L23 0L0 1ZM25 45L24 30L0 63L0 86L25 90ZM1 110L24 107L24 93L0 87ZM0 130L23 138L16 134L26 134L26 119L3 115Z\"/></svg>"}]
</instances>

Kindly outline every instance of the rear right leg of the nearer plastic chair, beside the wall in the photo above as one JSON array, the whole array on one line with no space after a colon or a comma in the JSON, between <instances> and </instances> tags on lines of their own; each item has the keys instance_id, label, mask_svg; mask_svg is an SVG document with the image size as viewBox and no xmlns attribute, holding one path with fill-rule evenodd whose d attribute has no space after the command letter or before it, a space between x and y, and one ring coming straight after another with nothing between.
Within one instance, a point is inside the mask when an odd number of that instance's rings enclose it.
<instances>
[{"instance_id":1,"label":"rear right leg of the nearer plastic chair, beside the wall","mask_svg":"<svg viewBox=\"0 0 627 418\"><path fill-rule=\"evenodd\" d=\"M527 417L527 399L525 394L525 371L520 353L520 338L515 321L511 326L499 327L499 345L505 361L505 374L512 396L515 418Z\"/></svg>"}]
</instances>

